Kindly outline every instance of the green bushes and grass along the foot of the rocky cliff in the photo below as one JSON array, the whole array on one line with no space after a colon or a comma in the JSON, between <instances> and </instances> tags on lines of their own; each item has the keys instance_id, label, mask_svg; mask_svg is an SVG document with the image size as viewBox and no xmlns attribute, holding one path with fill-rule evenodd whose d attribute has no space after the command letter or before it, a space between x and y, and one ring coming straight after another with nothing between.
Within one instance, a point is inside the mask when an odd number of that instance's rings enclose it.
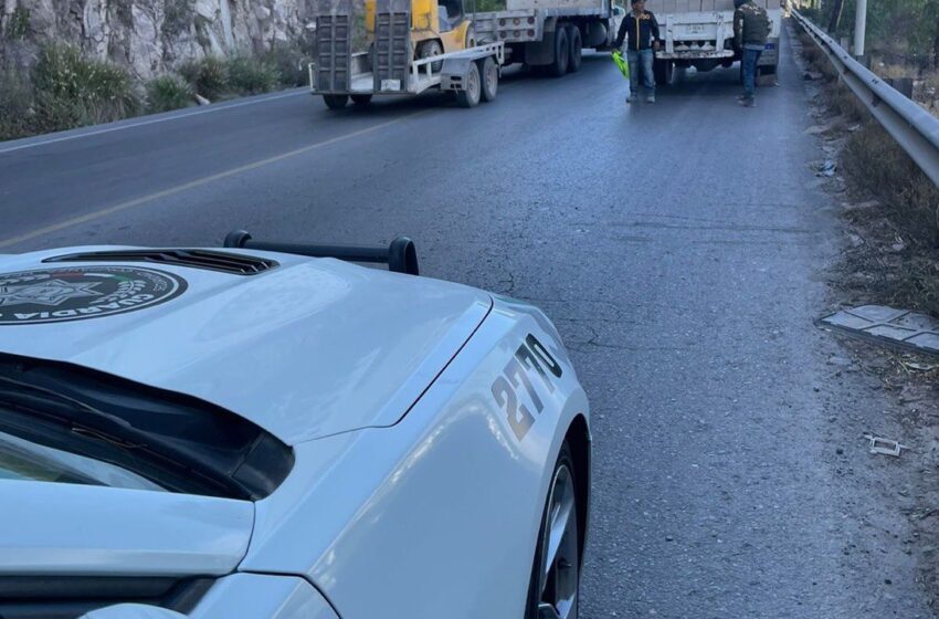
<instances>
[{"instance_id":1,"label":"green bushes and grass along the foot of the rocky cliff","mask_svg":"<svg viewBox=\"0 0 939 619\"><path fill-rule=\"evenodd\" d=\"M300 86L307 62L288 49L211 56L140 83L125 67L74 45L46 44L28 62L0 53L0 140Z\"/></svg>"}]
</instances>

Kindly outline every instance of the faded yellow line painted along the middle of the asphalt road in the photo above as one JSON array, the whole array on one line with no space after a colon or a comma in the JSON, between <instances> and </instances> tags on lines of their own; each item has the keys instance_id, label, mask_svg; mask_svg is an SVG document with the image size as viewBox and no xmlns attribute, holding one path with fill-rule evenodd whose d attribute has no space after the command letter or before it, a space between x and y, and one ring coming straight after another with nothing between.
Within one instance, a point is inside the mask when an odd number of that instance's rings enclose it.
<instances>
[{"instance_id":1,"label":"faded yellow line painted along the middle of the asphalt road","mask_svg":"<svg viewBox=\"0 0 939 619\"><path fill-rule=\"evenodd\" d=\"M36 237L42 237L43 234L49 234L51 232L57 232L60 230L64 230L65 228L71 228L73 225L77 225L80 223L85 223L95 219L101 219L102 217L113 214L119 211L124 211L127 209L131 209L134 207L139 207L146 202L150 202L152 200L157 200L159 198L166 198L167 196L173 196L176 193L181 193L182 191L187 191L189 189L194 189L196 187L201 187L203 185L209 185L210 182L214 182L217 180L221 180L223 178L229 178L235 175L240 175L242 172L246 172L250 170L254 170L257 168L262 168L264 166L270 166L271 164L276 164L277 161L283 161L284 159L288 159L291 157L296 157L297 155L303 155L305 153L309 153L310 150L316 150L317 148L323 148L324 146L329 146L330 144L336 144L338 141L345 141L347 139L351 139L354 137L359 137L361 135L370 134L372 132L377 132L379 129L383 129L384 127L389 127L391 125L395 125L409 118L413 118L414 116L420 116L421 114L425 114L428 111L422 109L419 112L413 112L408 114L407 116L400 116L392 120L388 120L387 123L380 123L378 125L372 125L371 127L366 127L363 129L359 129L357 132L352 132L350 134L337 136L334 138L329 138L323 141L317 141L316 144L310 144L304 146L302 148L297 148L295 150L289 150L287 153L282 153L281 155L275 155L273 157L268 157L266 159L261 159L260 161L254 161L253 164L246 164L244 166L239 166L236 168L232 168L225 170L223 172L218 172L211 176L202 177L189 182L184 182L182 185L177 185L176 187L170 187L169 189L163 189L162 191L157 191L156 193L149 193L147 196L141 196L140 198L135 198L133 200L128 200L126 202L120 202L118 204L114 204L110 207L105 207L103 209L98 209L96 211L92 211L78 217L73 217L72 219L66 219L64 221L60 221L57 223L52 223L50 225L45 225L43 228L39 228L36 230L32 230L30 232L24 232L18 237L11 237L9 239L0 240L0 248L8 248L10 245L15 245L17 243L22 243L23 241L29 241L30 239L35 239Z\"/></svg>"}]
</instances>

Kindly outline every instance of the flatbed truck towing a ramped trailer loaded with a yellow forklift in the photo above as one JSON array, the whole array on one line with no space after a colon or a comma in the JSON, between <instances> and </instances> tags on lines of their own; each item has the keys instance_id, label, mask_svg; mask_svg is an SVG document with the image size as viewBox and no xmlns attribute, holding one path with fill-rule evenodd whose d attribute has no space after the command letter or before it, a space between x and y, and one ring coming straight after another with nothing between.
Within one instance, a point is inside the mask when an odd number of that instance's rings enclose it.
<instances>
[{"instance_id":1,"label":"flatbed truck towing a ramped trailer loaded with a yellow forklift","mask_svg":"<svg viewBox=\"0 0 939 619\"><path fill-rule=\"evenodd\" d=\"M356 8L317 1L310 92L331 109L430 90L473 107L495 98L504 65L574 72L584 48L610 49L619 23L611 0L507 0L488 12L463 0L366 0L369 50L354 53Z\"/></svg>"}]
</instances>

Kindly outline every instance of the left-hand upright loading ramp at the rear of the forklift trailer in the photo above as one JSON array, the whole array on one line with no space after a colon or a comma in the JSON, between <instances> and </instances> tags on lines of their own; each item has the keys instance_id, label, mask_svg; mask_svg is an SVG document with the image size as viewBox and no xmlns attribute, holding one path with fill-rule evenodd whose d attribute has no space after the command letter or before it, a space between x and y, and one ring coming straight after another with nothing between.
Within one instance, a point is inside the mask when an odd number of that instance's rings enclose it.
<instances>
[{"instance_id":1,"label":"left-hand upright loading ramp at the rear of the forklift trailer","mask_svg":"<svg viewBox=\"0 0 939 619\"><path fill-rule=\"evenodd\" d=\"M352 1L318 0L314 88L321 93L351 90Z\"/></svg>"}]
</instances>

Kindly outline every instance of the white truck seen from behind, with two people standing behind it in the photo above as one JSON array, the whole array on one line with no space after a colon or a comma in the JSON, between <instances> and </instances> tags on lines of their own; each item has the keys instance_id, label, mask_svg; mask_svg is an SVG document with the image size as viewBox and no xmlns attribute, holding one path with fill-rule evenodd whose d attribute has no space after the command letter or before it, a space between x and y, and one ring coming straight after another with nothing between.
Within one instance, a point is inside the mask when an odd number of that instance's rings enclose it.
<instances>
[{"instance_id":1,"label":"white truck seen from behind, with two people standing behind it","mask_svg":"<svg viewBox=\"0 0 939 619\"><path fill-rule=\"evenodd\" d=\"M757 67L757 83L773 84L779 66L782 7L780 0L756 2L767 10L772 24ZM672 82L676 66L710 71L740 60L734 50L734 0L646 0L645 8L655 13L664 40L655 54L656 83Z\"/></svg>"}]
</instances>

